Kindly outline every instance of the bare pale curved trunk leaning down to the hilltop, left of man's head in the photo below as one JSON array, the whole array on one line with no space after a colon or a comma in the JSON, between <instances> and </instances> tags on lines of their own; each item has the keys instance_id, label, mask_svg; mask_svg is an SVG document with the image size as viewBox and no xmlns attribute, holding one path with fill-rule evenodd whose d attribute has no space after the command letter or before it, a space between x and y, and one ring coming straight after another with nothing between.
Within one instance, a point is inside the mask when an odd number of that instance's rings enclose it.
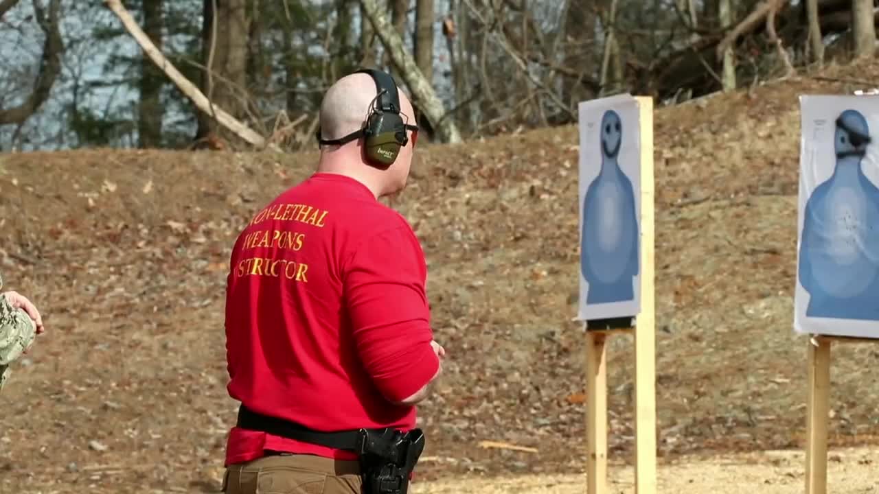
<instances>
[{"instance_id":1,"label":"bare pale curved trunk leaning down to the hilltop, left of man's head","mask_svg":"<svg viewBox=\"0 0 879 494\"><path fill-rule=\"evenodd\" d=\"M125 7L122 6L120 0L104 0L104 3L114 14L116 14L116 17L122 21L122 25L125 26L128 33L131 34L134 40L137 41L137 44L140 45L143 51L149 56L149 59L156 63L159 69L162 69L165 75L177 85L180 91L183 91L187 98L192 99L193 103L198 106L202 112L207 113L208 115L214 115L220 125L228 128L244 141L250 142L259 148L269 148L273 151L280 152L280 148L278 148L276 144L266 142L262 135L257 134L250 127L247 127L242 122L236 120L235 117L226 113L222 108L211 103L204 93L199 91L199 88L181 74L180 71L174 67L167 58L165 58L162 52L156 48L156 45L153 44L152 40L149 40L149 36L143 32L141 26L137 25L137 22L131 17L131 14L125 10Z\"/></svg>"}]
</instances>

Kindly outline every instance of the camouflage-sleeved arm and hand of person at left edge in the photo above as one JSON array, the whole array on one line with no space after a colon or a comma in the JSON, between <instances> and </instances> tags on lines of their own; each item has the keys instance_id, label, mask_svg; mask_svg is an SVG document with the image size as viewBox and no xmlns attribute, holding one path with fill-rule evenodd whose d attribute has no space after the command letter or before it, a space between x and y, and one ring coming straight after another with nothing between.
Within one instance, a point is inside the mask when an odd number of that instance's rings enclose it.
<instances>
[{"instance_id":1,"label":"camouflage-sleeved arm and hand of person at left edge","mask_svg":"<svg viewBox=\"0 0 879 494\"><path fill-rule=\"evenodd\" d=\"M9 379L10 364L27 352L43 330L40 311L31 301L18 292L0 293L0 390Z\"/></svg>"}]
</instances>

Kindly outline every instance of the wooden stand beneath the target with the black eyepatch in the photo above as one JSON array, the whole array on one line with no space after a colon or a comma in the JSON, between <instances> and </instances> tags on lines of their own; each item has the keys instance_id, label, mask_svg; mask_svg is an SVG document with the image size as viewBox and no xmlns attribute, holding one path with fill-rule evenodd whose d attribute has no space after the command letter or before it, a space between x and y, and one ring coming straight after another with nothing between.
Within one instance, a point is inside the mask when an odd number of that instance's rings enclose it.
<instances>
[{"instance_id":1,"label":"wooden stand beneath the target with the black eyepatch","mask_svg":"<svg viewBox=\"0 0 879 494\"><path fill-rule=\"evenodd\" d=\"M827 425L830 420L830 350L836 343L873 343L871 338L813 335L809 339L806 403L806 494L827 494Z\"/></svg>"}]
</instances>

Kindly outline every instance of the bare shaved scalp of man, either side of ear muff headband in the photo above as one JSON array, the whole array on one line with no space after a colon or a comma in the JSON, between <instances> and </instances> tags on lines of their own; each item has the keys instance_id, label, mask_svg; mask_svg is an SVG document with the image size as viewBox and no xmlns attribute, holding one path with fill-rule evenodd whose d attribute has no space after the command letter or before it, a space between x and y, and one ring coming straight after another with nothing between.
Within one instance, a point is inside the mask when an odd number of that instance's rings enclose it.
<instances>
[{"instance_id":1,"label":"bare shaved scalp of man, either side of ear muff headband","mask_svg":"<svg viewBox=\"0 0 879 494\"><path fill-rule=\"evenodd\" d=\"M403 120L415 113L409 98L397 87ZM320 113L321 138L339 139L357 132L367 120L370 105L378 91L368 74L351 74L339 79L323 95Z\"/></svg>"}]
</instances>

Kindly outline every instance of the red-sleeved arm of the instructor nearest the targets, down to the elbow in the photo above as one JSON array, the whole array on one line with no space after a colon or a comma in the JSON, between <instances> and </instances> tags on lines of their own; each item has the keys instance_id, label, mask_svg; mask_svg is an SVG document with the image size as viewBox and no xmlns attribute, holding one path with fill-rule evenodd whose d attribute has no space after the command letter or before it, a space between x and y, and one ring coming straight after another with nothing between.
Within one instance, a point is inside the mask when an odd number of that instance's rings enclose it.
<instances>
[{"instance_id":1,"label":"red-sleeved arm of the instructor nearest the targets, down to the elbow","mask_svg":"<svg viewBox=\"0 0 879 494\"><path fill-rule=\"evenodd\" d=\"M367 238L345 266L345 299L360 360L391 403L424 400L441 370L425 276L418 240L406 226Z\"/></svg>"}]
</instances>

